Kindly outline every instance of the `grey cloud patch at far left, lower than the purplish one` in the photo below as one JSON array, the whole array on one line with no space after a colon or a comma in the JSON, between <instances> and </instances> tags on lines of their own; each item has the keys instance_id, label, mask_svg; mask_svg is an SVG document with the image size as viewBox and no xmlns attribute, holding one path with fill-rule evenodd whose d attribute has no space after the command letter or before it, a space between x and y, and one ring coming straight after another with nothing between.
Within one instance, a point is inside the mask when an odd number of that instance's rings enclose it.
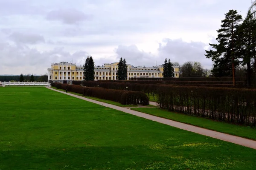
<instances>
[{"instance_id":1,"label":"grey cloud patch at far left, lower than the purplish one","mask_svg":"<svg viewBox=\"0 0 256 170\"><path fill-rule=\"evenodd\" d=\"M39 42L44 42L43 36L29 33L14 32L9 36L9 38L15 42L26 44L37 44Z\"/></svg>"}]
</instances>

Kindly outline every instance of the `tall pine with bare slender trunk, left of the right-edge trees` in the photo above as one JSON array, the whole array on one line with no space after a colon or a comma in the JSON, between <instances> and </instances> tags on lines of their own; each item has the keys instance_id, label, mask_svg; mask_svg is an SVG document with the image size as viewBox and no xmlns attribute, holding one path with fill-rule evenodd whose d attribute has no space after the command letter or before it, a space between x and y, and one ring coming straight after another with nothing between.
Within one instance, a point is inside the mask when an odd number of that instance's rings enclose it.
<instances>
[{"instance_id":1,"label":"tall pine with bare slender trunk, left of the right-edge trees","mask_svg":"<svg viewBox=\"0 0 256 170\"><path fill-rule=\"evenodd\" d=\"M240 21L242 20L242 16L237 13L236 10L230 10L228 13L225 14L225 19L221 21L222 25L221 28L217 31L218 37L216 40L219 44L209 44L212 46L212 48L215 49L215 51L207 51L206 50L206 57L211 58L212 61L218 60L221 57L224 57L224 54L226 54L230 50L230 57L232 60L232 75L233 75L233 85L236 85L235 80L235 63L236 60L238 60L238 57L236 56L236 51L238 51L238 48L236 46L236 30L240 25ZM226 55L226 57L228 57Z\"/></svg>"}]
</instances>

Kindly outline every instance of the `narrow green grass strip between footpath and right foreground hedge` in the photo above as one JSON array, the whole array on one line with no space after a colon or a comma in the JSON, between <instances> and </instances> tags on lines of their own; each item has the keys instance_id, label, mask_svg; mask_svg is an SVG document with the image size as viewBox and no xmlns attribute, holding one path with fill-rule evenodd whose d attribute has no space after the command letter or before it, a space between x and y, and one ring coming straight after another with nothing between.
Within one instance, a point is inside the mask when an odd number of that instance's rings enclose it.
<instances>
[{"instance_id":1,"label":"narrow green grass strip between footpath and right foreground hedge","mask_svg":"<svg viewBox=\"0 0 256 170\"><path fill-rule=\"evenodd\" d=\"M252 127L233 125L226 122L218 122L202 117L189 116L183 113L174 113L160 108L132 108L132 110L148 113L166 119L175 120L177 122L183 122L189 125L204 127L206 129L256 140L256 128Z\"/></svg>"}]
</instances>

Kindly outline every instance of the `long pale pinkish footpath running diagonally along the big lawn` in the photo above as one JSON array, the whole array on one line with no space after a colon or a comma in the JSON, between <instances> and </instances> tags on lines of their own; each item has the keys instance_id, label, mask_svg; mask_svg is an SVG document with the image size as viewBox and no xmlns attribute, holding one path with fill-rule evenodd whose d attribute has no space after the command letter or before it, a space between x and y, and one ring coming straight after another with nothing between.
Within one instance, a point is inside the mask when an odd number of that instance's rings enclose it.
<instances>
[{"instance_id":1,"label":"long pale pinkish footpath running diagonally along the big lawn","mask_svg":"<svg viewBox=\"0 0 256 170\"><path fill-rule=\"evenodd\" d=\"M47 88L50 89L50 90L53 90L53 91L58 91L58 90L55 90L53 88L49 88L49 87L47 87ZM239 145L242 145L242 146L245 146L245 147L250 147L250 148L256 149L256 141L253 141L253 140L250 140L250 139L245 139L245 138L241 138L241 137L238 137L238 136L229 135L229 134L226 134L226 133L216 132L216 131L204 129L204 128L201 128L201 127L187 125L185 123L175 122L173 120L160 118L160 117L157 117L157 116L149 115L149 114L146 114L146 113L141 113L141 112L138 112L138 111L133 111L133 110L130 110L129 108L122 108L122 107L119 107L119 106L116 106L116 105L111 105L111 104L108 104L108 103L99 102L99 101L92 100L92 99L87 99L83 96L78 96L78 95L66 93L66 92L63 92L63 91L58 91L58 92L63 93L63 94L67 94L69 96L73 96L73 97L76 97L76 98L79 98L79 99L82 99L82 100L86 100L88 102L93 102L93 103L96 103L98 105L109 107L109 108L112 108L112 109L115 109L115 110L118 110L118 111L129 113L129 114L132 114L132 115L135 115L135 116L143 117L145 119L153 120L155 122L163 123L165 125L170 125L170 126L173 126L173 127L177 127L179 129L183 129L183 130L187 130L187 131L190 131L190 132L198 133L198 134L201 134L201 135L204 135L204 136L209 136L209 137L212 137L212 138L215 138L215 139L220 139L220 140L223 140L223 141L226 141L226 142L231 142L231 143L239 144ZM151 105L156 105L155 102L150 102L150 104Z\"/></svg>"}]
</instances>

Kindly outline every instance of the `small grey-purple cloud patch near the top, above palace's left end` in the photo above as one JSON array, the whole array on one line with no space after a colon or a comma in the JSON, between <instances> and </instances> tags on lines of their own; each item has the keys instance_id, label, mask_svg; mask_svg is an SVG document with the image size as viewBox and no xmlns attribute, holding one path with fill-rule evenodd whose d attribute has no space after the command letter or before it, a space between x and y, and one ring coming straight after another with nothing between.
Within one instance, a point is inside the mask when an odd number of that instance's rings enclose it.
<instances>
[{"instance_id":1,"label":"small grey-purple cloud patch near the top, above palace's left end","mask_svg":"<svg viewBox=\"0 0 256 170\"><path fill-rule=\"evenodd\" d=\"M76 9L59 9L50 11L47 20L59 20L65 24L76 24L84 20L88 20L91 16L85 15L83 12Z\"/></svg>"}]
</instances>

